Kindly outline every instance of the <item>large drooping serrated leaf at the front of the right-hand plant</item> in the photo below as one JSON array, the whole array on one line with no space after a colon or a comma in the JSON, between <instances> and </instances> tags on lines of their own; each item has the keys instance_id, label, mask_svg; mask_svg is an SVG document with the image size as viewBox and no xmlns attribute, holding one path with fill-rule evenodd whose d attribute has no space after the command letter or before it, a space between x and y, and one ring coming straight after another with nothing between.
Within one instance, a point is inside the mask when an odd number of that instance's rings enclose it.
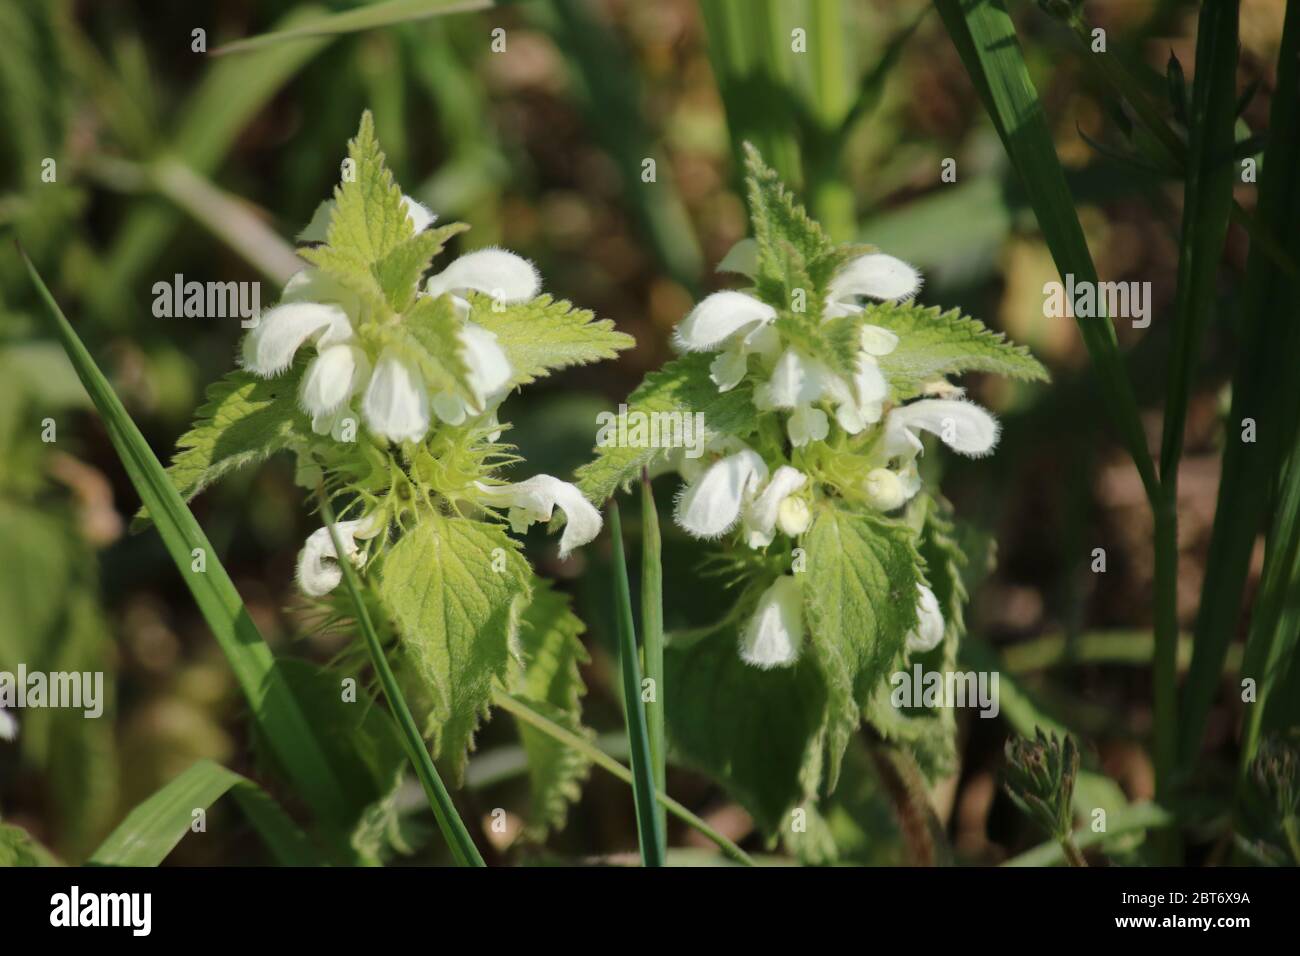
<instances>
[{"instance_id":1,"label":"large drooping serrated leaf at the front of the right-hand plant","mask_svg":"<svg viewBox=\"0 0 1300 956\"><path fill-rule=\"evenodd\" d=\"M803 538L803 606L828 695L827 778L863 709L916 624L920 555L910 528L870 514L823 507Z\"/></svg>"}]
</instances>

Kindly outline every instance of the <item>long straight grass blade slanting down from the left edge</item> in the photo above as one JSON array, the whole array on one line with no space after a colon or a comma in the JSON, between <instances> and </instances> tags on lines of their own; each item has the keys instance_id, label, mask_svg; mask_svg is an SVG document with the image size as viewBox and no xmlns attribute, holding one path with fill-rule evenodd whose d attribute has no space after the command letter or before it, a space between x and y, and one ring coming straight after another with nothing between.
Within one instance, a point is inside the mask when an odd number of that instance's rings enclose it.
<instances>
[{"instance_id":1,"label":"long straight grass blade slanting down from the left edge","mask_svg":"<svg viewBox=\"0 0 1300 956\"><path fill-rule=\"evenodd\" d=\"M199 611L212 628L217 644L230 662L252 718L269 743L281 766L296 784L300 796L320 818L334 826L347 822L347 805L341 787L311 726L298 706L283 674L276 665L270 648L248 615L239 593L230 581L216 551L190 509L181 501L144 436L126 414L103 372L95 365L86 346L58 308L44 281L20 247L32 284L46 303L51 323L73 368L95 407L104 419L108 437L121 458L140 501L153 516L162 544L176 562ZM204 571L194 571L195 555L202 551Z\"/></svg>"}]
</instances>

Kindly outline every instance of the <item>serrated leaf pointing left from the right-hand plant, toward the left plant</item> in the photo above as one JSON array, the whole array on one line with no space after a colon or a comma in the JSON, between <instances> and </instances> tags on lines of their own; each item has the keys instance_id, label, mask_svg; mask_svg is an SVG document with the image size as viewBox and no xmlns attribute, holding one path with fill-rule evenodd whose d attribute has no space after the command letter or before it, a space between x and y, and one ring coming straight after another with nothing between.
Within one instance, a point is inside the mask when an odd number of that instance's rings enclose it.
<instances>
[{"instance_id":1,"label":"serrated leaf pointing left from the right-hand plant, toward the left plant","mask_svg":"<svg viewBox=\"0 0 1300 956\"><path fill-rule=\"evenodd\" d=\"M749 381L731 392L718 392L708 378L712 355L694 352L673 359L646 380L628 397L628 414L701 412L706 437L732 434L744 438L758 428ZM663 449L625 445L597 446L595 458L577 470L577 484L588 498L603 503L618 489L641 475Z\"/></svg>"}]
</instances>

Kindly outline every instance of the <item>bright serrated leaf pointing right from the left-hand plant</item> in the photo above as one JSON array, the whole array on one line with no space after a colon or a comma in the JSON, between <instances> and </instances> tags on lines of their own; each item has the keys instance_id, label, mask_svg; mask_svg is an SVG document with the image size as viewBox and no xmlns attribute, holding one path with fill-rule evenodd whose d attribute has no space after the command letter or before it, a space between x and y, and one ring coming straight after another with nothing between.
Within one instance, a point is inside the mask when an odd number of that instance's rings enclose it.
<instances>
[{"instance_id":1,"label":"bright serrated leaf pointing right from the left-hand plant","mask_svg":"<svg viewBox=\"0 0 1300 956\"><path fill-rule=\"evenodd\" d=\"M550 295L507 306L474 294L471 303L473 321L497 336L510 359L511 386L529 385L560 368L614 359L636 345L611 320L597 320L589 310Z\"/></svg>"}]
</instances>

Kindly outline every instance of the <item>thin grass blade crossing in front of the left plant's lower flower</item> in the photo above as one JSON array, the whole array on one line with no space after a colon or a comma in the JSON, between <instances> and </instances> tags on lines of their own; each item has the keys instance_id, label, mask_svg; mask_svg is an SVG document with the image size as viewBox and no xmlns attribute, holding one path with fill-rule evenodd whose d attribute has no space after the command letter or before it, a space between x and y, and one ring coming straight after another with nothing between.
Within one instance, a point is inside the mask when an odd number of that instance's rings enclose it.
<instances>
[{"instance_id":1,"label":"thin grass blade crossing in front of the left plant's lower flower","mask_svg":"<svg viewBox=\"0 0 1300 956\"><path fill-rule=\"evenodd\" d=\"M321 489L317 489L316 497L320 501L321 514L325 516L325 527L329 528L330 540L334 542L334 553L347 554L343 542L339 540L338 528L334 523L334 510L330 507L329 499ZM376 633L374 624L370 620L370 611L361 597L361 588L356 581L356 571L352 570L350 561L339 561L338 566L343 571L347 593L352 598L352 606L356 610L356 623L361 631L361 637L365 640L365 649L370 653L370 663L380 678L380 685L384 688L384 696L389 701L389 710L393 711L393 719L402 732L402 745L406 748L407 758L411 761L411 766L420 779L420 786L424 787L425 796L429 797L429 808L438 821L438 829L447 840L447 845L451 848L451 855L455 857L458 865L482 866L484 858L478 853L469 830L465 829L465 822L456 813L456 805L451 801L451 795L442 783L438 769L433 765L433 757L429 756L429 748L424 744L420 727L416 726L415 717L411 715L411 708L407 706L406 697L402 696L398 679L389 666L389 658L384 653L384 645L380 643L380 636Z\"/></svg>"}]
</instances>

